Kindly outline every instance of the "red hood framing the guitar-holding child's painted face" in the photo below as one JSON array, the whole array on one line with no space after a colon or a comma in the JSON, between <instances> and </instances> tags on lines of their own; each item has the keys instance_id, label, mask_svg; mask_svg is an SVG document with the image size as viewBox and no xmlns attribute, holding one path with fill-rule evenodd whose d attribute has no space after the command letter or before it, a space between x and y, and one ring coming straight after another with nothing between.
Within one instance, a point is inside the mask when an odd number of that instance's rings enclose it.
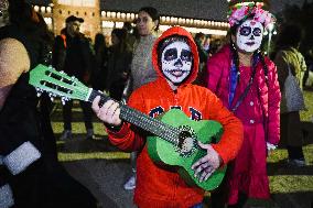
<instances>
[{"instance_id":1,"label":"red hood framing the guitar-holding child's painted face","mask_svg":"<svg viewBox=\"0 0 313 208\"><path fill-rule=\"evenodd\" d=\"M191 75L184 83L192 83L195 80L198 72L198 53L197 53L197 47L194 42L193 36L191 35L190 32L187 32L185 29L181 26L173 26L168 29L165 32L162 33L162 35L154 42L153 50L152 50L152 63L153 67L156 70L158 75L160 77L164 78L164 75L162 73L162 69L160 68L159 65L159 53L158 53L158 47L159 45L163 42L163 40L170 37L170 36L184 36L187 40L187 44L190 45L192 53L193 53L193 69L191 72Z\"/></svg>"}]
</instances>

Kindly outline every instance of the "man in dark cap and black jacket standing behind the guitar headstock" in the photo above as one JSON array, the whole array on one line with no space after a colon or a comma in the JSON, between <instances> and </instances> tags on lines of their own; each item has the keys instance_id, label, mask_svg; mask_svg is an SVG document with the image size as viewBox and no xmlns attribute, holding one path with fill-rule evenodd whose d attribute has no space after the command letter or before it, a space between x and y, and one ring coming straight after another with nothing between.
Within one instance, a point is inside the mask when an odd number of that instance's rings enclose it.
<instances>
[{"instance_id":1,"label":"man in dark cap and black jacket standing behind the guitar headstock","mask_svg":"<svg viewBox=\"0 0 313 208\"><path fill-rule=\"evenodd\" d=\"M66 19L66 28L56 37L54 45L54 66L69 76L75 76L85 85L89 85L93 52L88 40L79 32L84 19L71 15ZM87 131L86 139L94 138L90 103L80 101L84 121ZM61 140L72 138L72 107L73 101L67 101L63 107L64 131Z\"/></svg>"}]
</instances>

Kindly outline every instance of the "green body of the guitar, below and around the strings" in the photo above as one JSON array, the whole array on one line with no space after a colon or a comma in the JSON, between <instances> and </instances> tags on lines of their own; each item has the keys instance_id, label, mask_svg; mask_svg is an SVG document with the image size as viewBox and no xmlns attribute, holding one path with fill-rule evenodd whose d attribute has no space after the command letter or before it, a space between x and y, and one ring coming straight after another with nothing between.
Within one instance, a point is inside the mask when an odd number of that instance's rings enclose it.
<instances>
[{"instance_id":1,"label":"green body of the guitar, below and around the strings","mask_svg":"<svg viewBox=\"0 0 313 208\"><path fill-rule=\"evenodd\" d=\"M208 144L212 143L213 140L218 142L223 133L223 127L218 122L212 120L193 121L183 111L177 109L168 111L160 116L159 119L174 128L182 125L190 127L190 131L195 134L195 143L201 141L202 143ZM180 152L177 145L162 140L159 136L148 136L147 144L149 155L153 162L179 166L180 175L190 185L197 185L205 190L212 190L218 187L223 180L226 166L216 169L205 182L199 183L198 179L194 177L194 171L191 168L192 165L206 155L206 151L198 145L195 145L195 150L192 154L184 155Z\"/></svg>"}]
</instances>

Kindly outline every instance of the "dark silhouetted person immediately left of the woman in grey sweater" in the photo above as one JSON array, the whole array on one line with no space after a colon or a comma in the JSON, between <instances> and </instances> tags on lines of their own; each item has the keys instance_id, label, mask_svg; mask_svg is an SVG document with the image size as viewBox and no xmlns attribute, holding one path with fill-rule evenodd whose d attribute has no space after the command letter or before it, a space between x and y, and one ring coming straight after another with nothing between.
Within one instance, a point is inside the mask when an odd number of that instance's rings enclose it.
<instances>
[{"instance_id":1,"label":"dark silhouetted person immediately left of the woman in grey sweater","mask_svg":"<svg viewBox=\"0 0 313 208\"><path fill-rule=\"evenodd\" d=\"M116 100L121 100L122 91L130 73L132 51L127 41L127 31L125 29L112 30L112 45L109 47L108 73L105 85L110 97Z\"/></svg>"}]
</instances>

